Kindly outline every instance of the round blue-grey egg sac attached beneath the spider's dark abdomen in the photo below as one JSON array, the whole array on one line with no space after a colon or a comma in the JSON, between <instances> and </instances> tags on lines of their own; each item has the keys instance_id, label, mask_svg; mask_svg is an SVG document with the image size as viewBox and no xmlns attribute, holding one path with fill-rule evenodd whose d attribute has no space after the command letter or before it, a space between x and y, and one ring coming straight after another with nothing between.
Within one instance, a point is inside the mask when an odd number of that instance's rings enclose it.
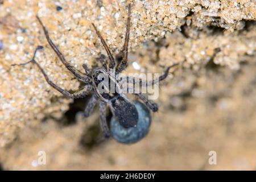
<instances>
[{"instance_id":1,"label":"round blue-grey egg sac attached beneath the spider's dark abdomen","mask_svg":"<svg viewBox=\"0 0 256 182\"><path fill-rule=\"evenodd\" d=\"M139 101L134 101L134 104L139 114L137 126L126 129L114 117L110 121L112 137L120 143L136 143L144 138L150 129L151 116L147 106Z\"/></svg>"}]
</instances>

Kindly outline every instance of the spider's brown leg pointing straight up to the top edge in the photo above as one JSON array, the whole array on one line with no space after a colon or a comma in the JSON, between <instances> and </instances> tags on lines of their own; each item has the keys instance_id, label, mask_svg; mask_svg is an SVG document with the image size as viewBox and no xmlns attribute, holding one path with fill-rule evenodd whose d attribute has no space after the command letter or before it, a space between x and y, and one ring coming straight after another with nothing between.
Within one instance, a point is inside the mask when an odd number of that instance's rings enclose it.
<instances>
[{"instance_id":1,"label":"spider's brown leg pointing straight up to the top edge","mask_svg":"<svg viewBox=\"0 0 256 182\"><path fill-rule=\"evenodd\" d=\"M126 24L126 34L125 34L125 44L123 44L123 56L122 61L118 65L116 72L120 73L127 66L127 57L128 57L128 46L129 46L129 36L130 36L130 19L131 19L131 4L128 5L128 18Z\"/></svg>"}]
</instances>

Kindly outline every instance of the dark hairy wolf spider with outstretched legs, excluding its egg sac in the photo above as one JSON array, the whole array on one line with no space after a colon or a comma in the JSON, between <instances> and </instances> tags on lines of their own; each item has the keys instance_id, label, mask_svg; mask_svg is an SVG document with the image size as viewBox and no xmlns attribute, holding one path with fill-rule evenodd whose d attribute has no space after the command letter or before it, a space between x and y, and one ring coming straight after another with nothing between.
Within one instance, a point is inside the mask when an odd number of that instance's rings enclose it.
<instances>
[{"instance_id":1,"label":"dark hairy wolf spider with outstretched legs, excluding its egg sac","mask_svg":"<svg viewBox=\"0 0 256 182\"><path fill-rule=\"evenodd\" d=\"M125 43L123 45L122 50L122 60L121 62L116 65L116 62L114 60L114 57L112 53L109 50L108 45L106 44L104 38L102 38L100 32L98 32L96 26L92 23L92 26L94 30L96 31L96 34L98 38L100 38L102 45L104 46L106 53L108 54L109 58L109 66L107 66L104 57L101 57L101 64L102 68L94 68L90 70L85 64L82 65L82 67L85 70L85 73L82 73L72 67L71 64L67 62L63 54L60 52L59 48L55 46L55 44L52 42L51 38L49 38L48 31L44 24L42 23L42 20L38 16L36 18L38 19L40 25L43 28L44 35L46 36L47 42L49 43L49 46L55 51L56 55L59 57L60 61L65 65L65 67L80 81L85 83L84 88L79 90L75 93L69 93L67 90L64 90L60 88L60 86L57 86L55 83L53 83L47 76L46 72L44 72L44 69L39 65L39 63L35 60L36 52L39 49L42 49L42 46L38 46L35 49L34 56L32 57L32 60L28 61L27 63L18 64L18 65L26 65L28 63L34 63L36 66L40 69L42 72L44 78L46 78L46 81L49 85L52 86L52 88L59 91L63 96L76 99L76 98L84 98L89 93L92 93L92 97L90 98L88 104L85 107L84 110L84 116L88 117L90 113L92 113L92 110L94 106L96 105L97 101L100 100L100 111L101 111L101 125L104 130L105 137L110 137L110 132L108 129L108 125L106 122L106 116L105 116L105 110L106 105L108 104L110 107L110 111L112 111L112 114L117 119L117 121L125 128L129 127L135 127L138 122L138 111L134 105L133 102L131 102L123 93L100 93L98 91L98 84L102 81L98 76L100 74L105 75L109 78L110 81L113 81L115 85L118 85L118 81L115 80L115 75L113 73L110 73L109 69L114 69L115 74L121 73L126 67L127 67L127 55L128 55L128 45L129 45L129 32L130 32L130 15L131 15L131 5L128 6L128 18L127 18L127 25L126 25L126 34L125 34ZM17 65L17 64L14 64ZM172 65L171 67L175 66L177 64ZM167 77L169 69L171 67L168 67L166 71L163 73L162 76L158 78L158 80L151 81L150 84L155 84L158 81L164 80L164 78ZM139 85L147 86L148 83L139 80ZM158 111L158 105L156 105L154 102L147 100L147 98L142 93L133 93L137 95L143 102L146 104L147 107L149 107L152 111Z\"/></svg>"}]
</instances>

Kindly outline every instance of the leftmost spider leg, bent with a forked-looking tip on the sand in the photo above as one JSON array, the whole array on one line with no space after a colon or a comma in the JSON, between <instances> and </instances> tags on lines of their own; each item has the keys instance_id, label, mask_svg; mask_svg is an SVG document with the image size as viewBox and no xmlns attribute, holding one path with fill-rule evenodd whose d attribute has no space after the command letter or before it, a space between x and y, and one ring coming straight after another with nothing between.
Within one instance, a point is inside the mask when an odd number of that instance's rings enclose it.
<instances>
[{"instance_id":1,"label":"leftmost spider leg, bent with a forked-looking tip on the sand","mask_svg":"<svg viewBox=\"0 0 256 182\"><path fill-rule=\"evenodd\" d=\"M53 83L49 77L47 76L46 72L44 72L44 69L38 64L38 62L35 61L35 55L36 55L36 52L39 50L39 49L42 49L43 47L42 46L38 46L36 47L35 49L35 52L34 52L34 55L32 57L32 60L28 61L27 63L22 63L22 64L13 64L12 66L14 65L26 65L28 63L34 63L36 64L36 66L40 69L40 71L43 73L44 75L44 78L46 78L46 81L48 82L49 85L52 86L52 88L56 89L57 91L59 91L61 94L63 94L63 96L65 97L68 97L68 98L81 98L81 97L85 97L88 93L89 93L89 90L84 90L83 92L81 93L69 93L67 90L64 90L62 88L60 88L59 86L57 86L55 83Z\"/></svg>"}]
</instances>

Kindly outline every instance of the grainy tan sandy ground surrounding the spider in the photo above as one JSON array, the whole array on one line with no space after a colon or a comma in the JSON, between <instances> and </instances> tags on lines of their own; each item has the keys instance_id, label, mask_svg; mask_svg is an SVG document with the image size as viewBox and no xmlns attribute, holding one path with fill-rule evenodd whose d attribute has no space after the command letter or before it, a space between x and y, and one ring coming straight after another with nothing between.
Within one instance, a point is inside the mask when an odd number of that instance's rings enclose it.
<instances>
[{"instance_id":1,"label":"grainy tan sandy ground surrounding the spider","mask_svg":"<svg viewBox=\"0 0 256 182\"><path fill-rule=\"evenodd\" d=\"M150 133L125 145L98 141L98 107L89 118L76 114L88 98L64 98L47 85L35 65L10 66L30 60L35 47L42 45L36 60L49 77L71 92L79 88L36 22L42 2L0 5L2 169L256 168L255 3L132 1L126 73L161 73L168 65L183 64L160 84L159 111L151 113ZM105 53L90 23L96 24L114 55L122 49L127 3L99 2L46 1L40 16L53 42L81 71L82 64L96 66L96 57ZM57 6L62 9L57 11ZM46 164L39 163L39 151L45 152ZM210 151L217 154L216 165L208 162Z\"/></svg>"}]
</instances>

